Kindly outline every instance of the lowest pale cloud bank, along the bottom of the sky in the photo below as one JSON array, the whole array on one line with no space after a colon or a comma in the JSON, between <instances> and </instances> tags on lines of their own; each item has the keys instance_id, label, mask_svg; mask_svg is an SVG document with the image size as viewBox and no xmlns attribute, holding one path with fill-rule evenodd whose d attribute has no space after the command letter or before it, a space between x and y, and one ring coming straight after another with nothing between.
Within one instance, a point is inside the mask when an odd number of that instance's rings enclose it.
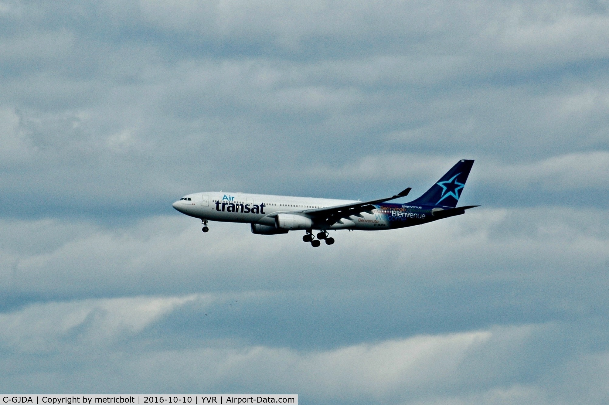
<instances>
[{"instance_id":1,"label":"lowest pale cloud bank, along the bottom of the sky","mask_svg":"<svg viewBox=\"0 0 609 405\"><path fill-rule=\"evenodd\" d=\"M2 314L0 323L12 332L2 328L0 344L14 353L2 357L15 365L21 359L18 370L2 372L3 384L17 391L90 390L93 381L97 389L112 392L132 392L134 384L180 392L287 390L312 403L519 403L540 398L572 403L577 397L563 388L569 384L589 387L579 399L591 403L607 396L602 388L606 350L577 347L579 334L560 324L420 334L304 351L205 340L186 346L174 340L164 347L143 332L180 306L218 300L222 297L86 300ZM205 331L206 323L202 320L198 328ZM565 337L572 339L567 351ZM540 351L542 345L546 348ZM563 351L548 362L546 351L557 345ZM531 370L532 361L540 364ZM40 368L31 373L29 364ZM524 370L529 373L523 379ZM591 377L600 384L590 386L586 379Z\"/></svg>"}]
</instances>

